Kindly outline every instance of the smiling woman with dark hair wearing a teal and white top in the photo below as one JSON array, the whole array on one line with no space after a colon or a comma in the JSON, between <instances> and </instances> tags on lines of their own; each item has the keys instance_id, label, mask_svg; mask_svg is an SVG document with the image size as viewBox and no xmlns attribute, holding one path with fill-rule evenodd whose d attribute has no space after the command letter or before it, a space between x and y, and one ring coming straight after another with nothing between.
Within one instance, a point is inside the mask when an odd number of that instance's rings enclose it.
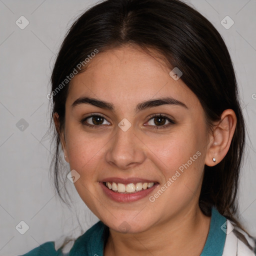
<instances>
[{"instance_id":1,"label":"smiling woman with dark hair wearing a teal and white top","mask_svg":"<svg viewBox=\"0 0 256 256\"><path fill-rule=\"evenodd\" d=\"M237 219L236 79L207 19L178 0L103 1L71 26L51 82L56 189L61 144L100 219L67 255L255 255Z\"/></svg>"}]
</instances>

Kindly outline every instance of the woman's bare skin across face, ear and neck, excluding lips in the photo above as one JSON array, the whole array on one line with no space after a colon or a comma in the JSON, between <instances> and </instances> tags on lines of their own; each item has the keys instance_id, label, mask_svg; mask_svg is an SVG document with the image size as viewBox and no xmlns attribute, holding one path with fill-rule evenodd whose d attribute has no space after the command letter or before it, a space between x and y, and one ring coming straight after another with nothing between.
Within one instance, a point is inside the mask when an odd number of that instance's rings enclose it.
<instances>
[{"instance_id":1,"label":"woman's bare skin across face, ear and neck, excluding lips","mask_svg":"<svg viewBox=\"0 0 256 256\"><path fill-rule=\"evenodd\" d=\"M104 255L199 255L205 244L210 217L198 206L204 164L212 166L223 159L236 117L233 110L226 109L221 121L208 132L198 98L181 79L172 79L169 71L161 59L136 46L97 53L87 69L71 80L61 132L57 114L54 116L65 159L70 170L80 175L74 186L109 227ZM72 107L81 96L108 101L115 112L90 104ZM138 103L165 96L187 108L165 104L135 113ZM101 126L90 128L80 122L92 113L103 115ZM167 115L175 123L153 129L160 125L149 117L151 114ZM118 127L123 118L131 123L125 132ZM168 125L164 120L163 125ZM93 125L91 118L87 122ZM148 197L197 151L200 156L150 202ZM99 186L98 181L106 177L140 177L156 180L159 185L149 196L120 203L108 198ZM126 233L119 228L123 221L128 223Z\"/></svg>"}]
</instances>

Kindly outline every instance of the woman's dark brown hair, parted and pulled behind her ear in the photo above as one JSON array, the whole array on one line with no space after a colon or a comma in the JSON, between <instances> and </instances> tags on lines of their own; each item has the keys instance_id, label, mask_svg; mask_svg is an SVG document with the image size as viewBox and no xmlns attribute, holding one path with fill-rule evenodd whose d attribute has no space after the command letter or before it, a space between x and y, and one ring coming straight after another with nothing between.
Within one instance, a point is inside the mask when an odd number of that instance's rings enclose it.
<instances>
[{"instance_id":1,"label":"woman's dark brown hair, parted and pulled behind her ear","mask_svg":"<svg viewBox=\"0 0 256 256\"><path fill-rule=\"evenodd\" d=\"M205 215L210 215L211 207L216 206L220 214L246 232L238 221L237 212L245 127L236 78L221 35L198 11L179 0L106 0L98 3L82 13L67 32L52 71L51 90L56 91L94 49L102 52L124 44L135 44L145 50L153 48L170 68L177 66L183 72L181 79L198 97L209 130L213 121L220 120L223 110L234 110L237 124L230 148L218 164L205 165L199 206ZM64 129L68 84L52 97L52 116L58 113L60 131ZM53 141L56 150L51 167L56 191L62 199L59 184L60 171L64 168L63 165L60 168L60 139L56 131ZM244 236L236 233L251 248Z\"/></svg>"}]
</instances>

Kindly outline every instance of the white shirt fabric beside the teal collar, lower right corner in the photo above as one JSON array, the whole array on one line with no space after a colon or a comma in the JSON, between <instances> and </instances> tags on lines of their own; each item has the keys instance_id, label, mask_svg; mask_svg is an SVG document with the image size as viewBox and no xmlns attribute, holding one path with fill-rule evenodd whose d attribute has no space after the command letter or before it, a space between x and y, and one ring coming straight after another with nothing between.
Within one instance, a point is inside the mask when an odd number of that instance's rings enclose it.
<instances>
[{"instance_id":1,"label":"white shirt fabric beside the teal collar, lower right corner","mask_svg":"<svg viewBox=\"0 0 256 256\"><path fill-rule=\"evenodd\" d=\"M239 230L242 232L241 230ZM244 234L244 232L242 232ZM245 235L245 234L244 234ZM254 245L249 237L246 237L249 244ZM249 249L249 247L244 244L233 232L233 225L227 219L227 228L226 228L226 240L224 244L224 249L222 256L255 256L255 253Z\"/></svg>"}]
</instances>

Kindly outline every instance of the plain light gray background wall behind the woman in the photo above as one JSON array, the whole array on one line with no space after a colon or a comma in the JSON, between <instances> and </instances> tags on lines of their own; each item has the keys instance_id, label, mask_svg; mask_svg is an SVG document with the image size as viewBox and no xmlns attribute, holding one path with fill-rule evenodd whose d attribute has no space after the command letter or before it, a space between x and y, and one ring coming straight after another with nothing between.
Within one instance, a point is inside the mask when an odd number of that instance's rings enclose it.
<instances>
[{"instance_id":1,"label":"plain light gray background wall behind the woman","mask_svg":"<svg viewBox=\"0 0 256 256\"><path fill-rule=\"evenodd\" d=\"M95 2L0 0L0 255L23 254L61 235L78 236L77 218L83 231L98 220L71 182L73 207L60 203L48 172L50 140L42 139L49 125L46 94L55 54L75 17ZM186 2L217 28L234 63L248 132L240 220L256 235L256 0ZM15 23L21 15L29 21L24 29ZM229 29L220 23L226 15L234 21ZM27 127L20 126L21 118ZM15 229L21 220L29 226L23 235Z\"/></svg>"}]
</instances>

